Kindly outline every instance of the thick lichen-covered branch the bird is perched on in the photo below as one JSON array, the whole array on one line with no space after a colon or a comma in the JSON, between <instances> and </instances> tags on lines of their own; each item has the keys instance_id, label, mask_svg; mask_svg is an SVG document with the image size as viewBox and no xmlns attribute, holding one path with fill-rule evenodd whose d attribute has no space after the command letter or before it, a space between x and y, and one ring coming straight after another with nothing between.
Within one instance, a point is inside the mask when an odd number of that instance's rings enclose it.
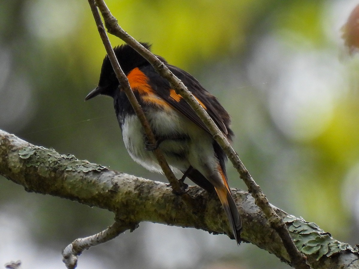
<instances>
[{"instance_id":1,"label":"thick lichen-covered branch the bird is perched on","mask_svg":"<svg viewBox=\"0 0 359 269\"><path fill-rule=\"evenodd\" d=\"M107 209L116 214L116 222L122 227L150 221L214 234L231 233L219 200L199 187L189 187L188 194L195 205L189 207L164 183L111 171L73 155L60 155L1 130L0 175L30 192ZM278 233L269 226L253 197L242 190L233 189L232 193L243 218L243 240L290 264ZM286 222L290 236L307 255L312 268L359 268L356 247L335 240L315 223L272 207Z\"/></svg>"}]
</instances>

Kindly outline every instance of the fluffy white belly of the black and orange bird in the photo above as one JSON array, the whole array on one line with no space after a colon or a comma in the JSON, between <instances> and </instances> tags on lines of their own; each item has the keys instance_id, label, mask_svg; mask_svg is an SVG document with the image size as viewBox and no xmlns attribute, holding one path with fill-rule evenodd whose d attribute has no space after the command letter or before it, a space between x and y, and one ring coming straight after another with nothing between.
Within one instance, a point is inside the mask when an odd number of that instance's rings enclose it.
<instances>
[{"instance_id":1,"label":"fluffy white belly of the black and orange bird","mask_svg":"<svg viewBox=\"0 0 359 269\"><path fill-rule=\"evenodd\" d=\"M171 110L171 113L157 110L147 113L146 117L158 137L168 134L190 137L188 140L164 140L159 144L175 173L178 170L187 170L190 165L196 167L201 162L207 162L206 155L213 158L211 136L182 114L174 110ZM162 173L153 152L145 149L144 131L136 115L127 116L123 120L122 136L125 147L134 161L150 171Z\"/></svg>"}]
</instances>

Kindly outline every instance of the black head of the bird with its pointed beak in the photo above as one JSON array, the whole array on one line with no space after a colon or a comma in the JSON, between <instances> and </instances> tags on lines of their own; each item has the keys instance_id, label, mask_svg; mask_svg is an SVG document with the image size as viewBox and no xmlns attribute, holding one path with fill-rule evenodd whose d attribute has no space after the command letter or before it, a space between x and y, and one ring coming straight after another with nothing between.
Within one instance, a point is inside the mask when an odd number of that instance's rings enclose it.
<instances>
[{"instance_id":1,"label":"black head of the bird with its pointed beak","mask_svg":"<svg viewBox=\"0 0 359 269\"><path fill-rule=\"evenodd\" d=\"M150 50L151 45L149 43L141 44L146 49ZM125 73L125 75L127 75L132 69L136 67L149 65L148 61L145 58L143 58L138 52L136 52L127 44L117 46L113 49L113 51L115 52L118 63L120 64L121 69ZM119 85L120 84L115 75L115 71L113 71L111 62L106 55L102 62L98 86L86 96L85 101L99 94L114 97Z\"/></svg>"}]
</instances>

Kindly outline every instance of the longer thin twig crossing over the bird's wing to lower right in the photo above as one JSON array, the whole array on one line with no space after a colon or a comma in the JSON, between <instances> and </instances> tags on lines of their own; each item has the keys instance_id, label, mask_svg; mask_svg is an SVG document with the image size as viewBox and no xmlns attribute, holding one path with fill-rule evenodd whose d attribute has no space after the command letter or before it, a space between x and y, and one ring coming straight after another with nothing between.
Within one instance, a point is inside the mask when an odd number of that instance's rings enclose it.
<instances>
[{"instance_id":1,"label":"longer thin twig crossing over the bird's wing to lower right","mask_svg":"<svg viewBox=\"0 0 359 269\"><path fill-rule=\"evenodd\" d=\"M292 238L289 235L289 231L286 228L285 223L270 206L268 199L263 194L259 185L255 183L252 176L250 175L242 161L239 159L237 153L230 146L228 140L216 126L208 113L201 107L201 105L194 98L194 96L187 90L186 86L182 83L182 81L178 79L175 75L173 75L173 73L168 69L167 66L164 65L163 62L161 62L156 56L154 56L150 51L144 48L139 42L137 42L134 38L127 34L118 25L116 18L111 14L103 0L95 1L101 11L108 32L121 38L137 52L139 52L144 58L146 58L146 60L148 60L148 62L154 67L154 69L162 77L169 81L172 87L176 90L176 93L180 94L188 102L188 104L191 105L191 107L195 110L200 119L205 123L206 127L209 129L214 139L224 149L227 156L232 161L233 166L237 169L240 177L247 185L248 190L255 198L256 204L265 213L271 227L279 233L279 236L283 241L283 245L285 246L285 249L288 251L288 254L291 257L292 266L294 266L295 268L311 268L307 264L306 256L300 253L300 251L298 251L297 247L295 246Z\"/></svg>"}]
</instances>

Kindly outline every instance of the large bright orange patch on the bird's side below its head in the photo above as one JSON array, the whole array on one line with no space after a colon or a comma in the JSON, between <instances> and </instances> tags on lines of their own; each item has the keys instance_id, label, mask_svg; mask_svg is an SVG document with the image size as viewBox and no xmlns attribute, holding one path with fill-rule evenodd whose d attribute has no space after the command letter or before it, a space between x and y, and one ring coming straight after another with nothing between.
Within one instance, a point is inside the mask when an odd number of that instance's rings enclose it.
<instances>
[{"instance_id":1,"label":"large bright orange patch on the bird's side below its head","mask_svg":"<svg viewBox=\"0 0 359 269\"><path fill-rule=\"evenodd\" d=\"M142 100L147 103L158 105L162 108L169 109L170 106L158 96L155 91L148 84L148 77L137 67L133 69L128 75L130 87L133 91L137 91Z\"/></svg>"}]
</instances>

